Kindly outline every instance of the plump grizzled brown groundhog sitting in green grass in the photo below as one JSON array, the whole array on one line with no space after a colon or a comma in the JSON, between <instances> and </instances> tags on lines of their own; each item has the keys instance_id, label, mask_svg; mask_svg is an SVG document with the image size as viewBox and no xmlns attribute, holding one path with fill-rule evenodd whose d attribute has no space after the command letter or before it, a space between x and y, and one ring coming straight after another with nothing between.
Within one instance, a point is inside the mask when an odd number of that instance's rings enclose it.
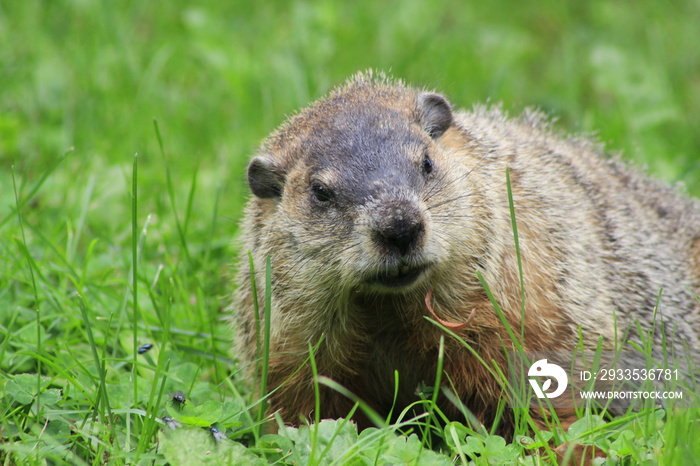
<instances>
[{"instance_id":1,"label":"plump grizzled brown groundhog sitting in green grass","mask_svg":"<svg viewBox=\"0 0 700 466\"><path fill-rule=\"evenodd\" d=\"M507 326L526 351L619 349L649 331L700 361L700 205L538 111L455 111L361 73L273 132L247 175L235 351L259 367L250 251L260 314L271 262L269 401L286 422L354 406L321 385L314 413L310 347L319 375L396 416L435 383L443 337L440 410L463 419L458 398L502 431L513 421L485 366L506 371Z\"/></svg>"}]
</instances>

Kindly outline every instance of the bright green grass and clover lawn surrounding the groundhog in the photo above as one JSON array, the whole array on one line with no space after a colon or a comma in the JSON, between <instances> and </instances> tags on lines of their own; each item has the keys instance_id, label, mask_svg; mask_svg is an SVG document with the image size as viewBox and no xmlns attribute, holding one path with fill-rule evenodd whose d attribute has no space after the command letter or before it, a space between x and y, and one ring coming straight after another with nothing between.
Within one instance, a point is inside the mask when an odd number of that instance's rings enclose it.
<instances>
[{"instance_id":1,"label":"bright green grass and clover lawn surrounding the groundhog","mask_svg":"<svg viewBox=\"0 0 700 466\"><path fill-rule=\"evenodd\" d=\"M246 161L285 114L371 67L458 106L539 106L700 195L698 15L691 0L0 2L0 460L196 463L197 441L240 462L539 451L461 425L441 453L342 421L252 435L221 321ZM646 414L589 419L585 442L610 461L700 457L697 409ZM197 428L213 423L247 447L213 448Z\"/></svg>"}]
</instances>

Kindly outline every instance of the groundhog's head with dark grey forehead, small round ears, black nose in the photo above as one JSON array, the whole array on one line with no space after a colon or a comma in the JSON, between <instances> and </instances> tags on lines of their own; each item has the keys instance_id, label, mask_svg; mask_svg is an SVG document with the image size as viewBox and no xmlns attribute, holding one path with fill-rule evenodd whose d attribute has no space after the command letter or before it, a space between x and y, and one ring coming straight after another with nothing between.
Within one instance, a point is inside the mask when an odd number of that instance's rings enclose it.
<instances>
[{"instance_id":1,"label":"groundhog's head with dark grey forehead, small round ears, black nose","mask_svg":"<svg viewBox=\"0 0 700 466\"><path fill-rule=\"evenodd\" d=\"M425 281L458 236L454 124L442 96L368 74L291 117L248 167L263 254L333 285Z\"/></svg>"}]
</instances>

